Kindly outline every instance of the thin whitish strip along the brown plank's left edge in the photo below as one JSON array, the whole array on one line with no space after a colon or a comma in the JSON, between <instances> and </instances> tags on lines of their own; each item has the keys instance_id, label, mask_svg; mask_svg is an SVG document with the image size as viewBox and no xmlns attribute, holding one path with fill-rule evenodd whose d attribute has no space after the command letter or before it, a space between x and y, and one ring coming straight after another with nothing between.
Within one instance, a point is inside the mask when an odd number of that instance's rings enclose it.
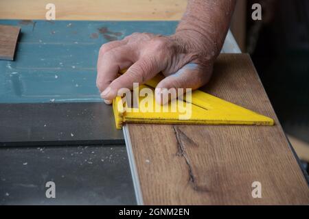
<instances>
[{"instance_id":1,"label":"thin whitish strip along the brown plank's left edge","mask_svg":"<svg viewBox=\"0 0 309 219\"><path fill-rule=\"evenodd\" d=\"M126 152L128 153L128 160L130 163L131 175L133 179L133 186L135 190L135 198L137 205L144 205L143 196L141 194L141 184L139 183L139 175L137 173L137 168L135 164L135 157L132 149L130 133L128 131L128 126L124 125L122 127L124 131L124 141L126 142Z\"/></svg>"}]
</instances>

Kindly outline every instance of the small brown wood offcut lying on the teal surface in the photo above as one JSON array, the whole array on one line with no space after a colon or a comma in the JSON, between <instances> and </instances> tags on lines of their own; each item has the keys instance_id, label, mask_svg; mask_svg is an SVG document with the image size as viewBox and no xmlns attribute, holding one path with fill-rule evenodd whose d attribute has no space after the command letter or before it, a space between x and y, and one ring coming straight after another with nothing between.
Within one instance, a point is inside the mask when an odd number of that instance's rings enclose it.
<instances>
[{"instance_id":1,"label":"small brown wood offcut lying on the teal surface","mask_svg":"<svg viewBox=\"0 0 309 219\"><path fill-rule=\"evenodd\" d=\"M0 60L14 60L20 30L21 27L0 25Z\"/></svg>"}]
</instances>

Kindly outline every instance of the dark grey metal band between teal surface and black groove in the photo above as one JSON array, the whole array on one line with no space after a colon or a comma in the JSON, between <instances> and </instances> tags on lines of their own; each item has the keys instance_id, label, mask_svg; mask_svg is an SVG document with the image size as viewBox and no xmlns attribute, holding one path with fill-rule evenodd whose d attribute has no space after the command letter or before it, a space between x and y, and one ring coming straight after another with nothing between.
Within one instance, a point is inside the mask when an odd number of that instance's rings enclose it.
<instances>
[{"instance_id":1,"label":"dark grey metal band between teal surface and black groove","mask_svg":"<svg viewBox=\"0 0 309 219\"><path fill-rule=\"evenodd\" d=\"M124 144L102 103L1 103L0 146Z\"/></svg>"}]
</instances>

